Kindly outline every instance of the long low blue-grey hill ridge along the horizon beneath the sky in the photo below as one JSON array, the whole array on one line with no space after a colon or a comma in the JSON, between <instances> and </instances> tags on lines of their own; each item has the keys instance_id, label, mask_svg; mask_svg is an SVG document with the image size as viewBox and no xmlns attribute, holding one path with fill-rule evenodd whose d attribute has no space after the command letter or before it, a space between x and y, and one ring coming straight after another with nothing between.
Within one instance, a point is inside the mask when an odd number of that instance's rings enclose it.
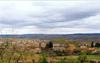
<instances>
[{"instance_id":1,"label":"long low blue-grey hill ridge along the horizon beneath the sky","mask_svg":"<svg viewBox=\"0 0 100 63\"><path fill-rule=\"evenodd\" d=\"M32 38L32 39L55 39L65 38L79 41L100 41L100 33L84 34L23 34L23 35L0 35L0 38Z\"/></svg>"}]
</instances>

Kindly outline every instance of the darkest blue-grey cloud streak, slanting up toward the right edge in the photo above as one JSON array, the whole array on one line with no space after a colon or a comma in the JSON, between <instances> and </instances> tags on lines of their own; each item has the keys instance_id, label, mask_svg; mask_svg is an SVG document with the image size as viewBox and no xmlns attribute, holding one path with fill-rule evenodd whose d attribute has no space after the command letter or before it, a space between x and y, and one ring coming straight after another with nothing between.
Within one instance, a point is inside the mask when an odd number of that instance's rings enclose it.
<instances>
[{"instance_id":1,"label":"darkest blue-grey cloud streak, slanting up toward the right edge","mask_svg":"<svg viewBox=\"0 0 100 63\"><path fill-rule=\"evenodd\" d=\"M75 27L74 25L77 25L78 22L77 21L80 21L82 19L86 19L86 18L89 18L91 16L95 16L98 12L95 12L95 11L88 11L88 12L78 12L78 13L72 13L70 15L68 14L65 14L65 16L62 16L60 18L63 18L63 19L47 19L45 18L45 21L42 22L42 23L38 23L36 26L37 27L40 27L40 28L56 28L56 27L65 27L65 28L68 28L68 27ZM73 22L73 21L76 21L75 23L69 23L69 22ZM69 23L67 25L63 25L62 26L57 26L56 24L57 23Z\"/></svg>"}]
</instances>

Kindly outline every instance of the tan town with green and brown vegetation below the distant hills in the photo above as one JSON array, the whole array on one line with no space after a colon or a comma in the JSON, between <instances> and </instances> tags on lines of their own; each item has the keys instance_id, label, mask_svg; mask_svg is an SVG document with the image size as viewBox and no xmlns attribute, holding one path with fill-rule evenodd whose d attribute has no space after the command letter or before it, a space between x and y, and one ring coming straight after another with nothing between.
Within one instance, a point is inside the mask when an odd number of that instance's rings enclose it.
<instances>
[{"instance_id":1,"label":"tan town with green and brown vegetation below the distant hills","mask_svg":"<svg viewBox=\"0 0 100 63\"><path fill-rule=\"evenodd\" d=\"M100 63L100 42L0 39L0 63Z\"/></svg>"}]
</instances>

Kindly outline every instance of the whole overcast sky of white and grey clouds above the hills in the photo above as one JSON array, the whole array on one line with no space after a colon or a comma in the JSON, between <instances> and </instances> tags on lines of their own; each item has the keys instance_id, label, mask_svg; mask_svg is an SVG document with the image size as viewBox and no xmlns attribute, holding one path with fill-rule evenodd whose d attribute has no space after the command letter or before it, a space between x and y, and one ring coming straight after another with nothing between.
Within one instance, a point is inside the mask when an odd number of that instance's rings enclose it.
<instances>
[{"instance_id":1,"label":"whole overcast sky of white and grey clouds above the hills","mask_svg":"<svg viewBox=\"0 0 100 63\"><path fill-rule=\"evenodd\" d=\"M0 34L100 33L100 1L0 1Z\"/></svg>"}]
</instances>

